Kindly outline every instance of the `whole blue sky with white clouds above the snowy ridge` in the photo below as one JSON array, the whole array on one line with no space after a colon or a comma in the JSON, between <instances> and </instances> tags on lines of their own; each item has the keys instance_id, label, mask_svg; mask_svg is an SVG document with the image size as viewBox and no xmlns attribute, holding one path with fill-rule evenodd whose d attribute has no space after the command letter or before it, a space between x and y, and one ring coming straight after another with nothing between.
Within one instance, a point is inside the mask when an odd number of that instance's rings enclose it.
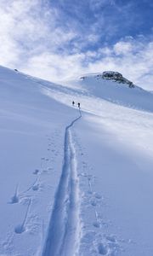
<instances>
[{"instance_id":1,"label":"whole blue sky with white clouds above the snowy ridge","mask_svg":"<svg viewBox=\"0 0 153 256\"><path fill-rule=\"evenodd\" d=\"M151 0L1 0L0 64L52 81L115 70L153 90Z\"/></svg>"}]
</instances>

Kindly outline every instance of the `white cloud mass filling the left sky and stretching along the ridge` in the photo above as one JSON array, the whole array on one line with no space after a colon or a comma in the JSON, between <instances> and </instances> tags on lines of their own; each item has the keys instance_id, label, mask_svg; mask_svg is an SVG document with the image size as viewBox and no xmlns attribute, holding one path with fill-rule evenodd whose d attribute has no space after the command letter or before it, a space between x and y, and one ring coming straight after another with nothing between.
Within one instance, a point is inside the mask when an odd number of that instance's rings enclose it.
<instances>
[{"instance_id":1,"label":"white cloud mass filling the left sky and stretching along the ridge","mask_svg":"<svg viewBox=\"0 0 153 256\"><path fill-rule=\"evenodd\" d=\"M96 24L83 38L83 32L79 34L72 24L59 24L59 15L58 9L48 9L48 3L44 5L42 0L8 0L7 4L1 0L0 64L53 81L81 73L116 70L135 84L153 90L151 40L146 42L140 35L112 46L82 51L88 42L99 41ZM73 49L69 47L71 41Z\"/></svg>"}]
</instances>

